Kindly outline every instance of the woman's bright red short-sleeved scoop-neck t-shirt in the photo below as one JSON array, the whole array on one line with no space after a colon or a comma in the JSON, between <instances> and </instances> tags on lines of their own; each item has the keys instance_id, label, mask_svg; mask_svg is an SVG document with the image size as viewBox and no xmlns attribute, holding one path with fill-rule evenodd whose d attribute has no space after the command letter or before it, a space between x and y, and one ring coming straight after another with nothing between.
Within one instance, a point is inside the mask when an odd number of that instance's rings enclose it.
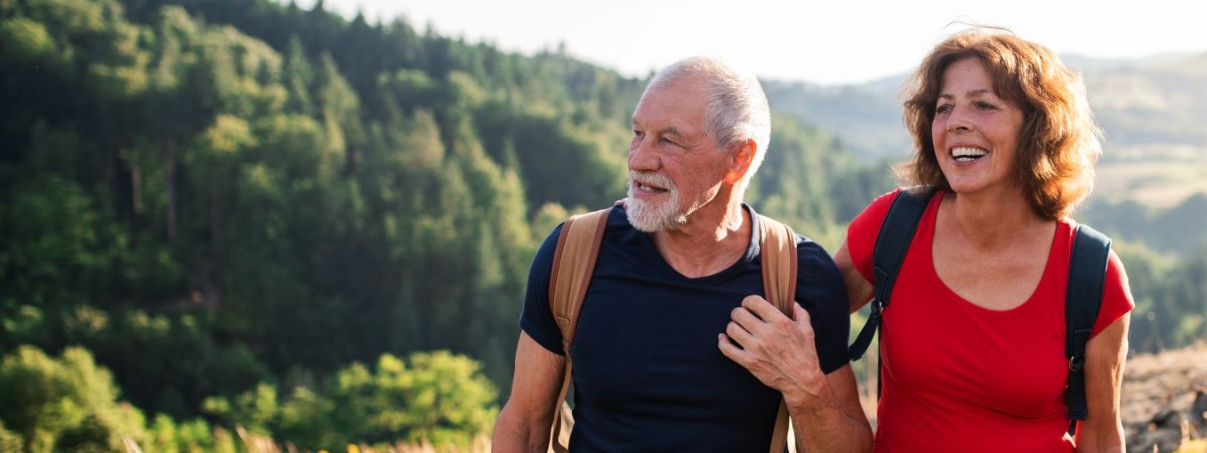
<instances>
[{"instance_id":1,"label":"woman's bright red short-sleeved scoop-neck t-shirt","mask_svg":"<svg viewBox=\"0 0 1207 453\"><path fill-rule=\"evenodd\" d=\"M868 281L880 225L899 192L876 198L847 228L851 261ZM884 312L876 451L1072 452L1065 290L1074 222L1059 222L1034 294L992 310L961 298L934 271L941 199L940 191L927 205ZM1127 275L1112 254L1092 335L1132 307Z\"/></svg>"}]
</instances>

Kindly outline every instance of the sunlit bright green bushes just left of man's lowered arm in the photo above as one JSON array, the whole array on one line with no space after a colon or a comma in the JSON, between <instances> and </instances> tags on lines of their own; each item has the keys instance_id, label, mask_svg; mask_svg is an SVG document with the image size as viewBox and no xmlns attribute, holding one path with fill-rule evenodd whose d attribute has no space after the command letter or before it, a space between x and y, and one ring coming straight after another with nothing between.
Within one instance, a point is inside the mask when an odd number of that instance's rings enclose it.
<instances>
[{"instance_id":1,"label":"sunlit bright green bushes just left of man's lowered arm","mask_svg":"<svg viewBox=\"0 0 1207 453\"><path fill-rule=\"evenodd\" d=\"M406 361L383 354L373 370L352 362L320 389L295 387L281 401L274 385L262 383L234 397L208 399L205 408L302 448L419 440L466 447L498 413L496 396L478 362L435 352Z\"/></svg>"}]
</instances>

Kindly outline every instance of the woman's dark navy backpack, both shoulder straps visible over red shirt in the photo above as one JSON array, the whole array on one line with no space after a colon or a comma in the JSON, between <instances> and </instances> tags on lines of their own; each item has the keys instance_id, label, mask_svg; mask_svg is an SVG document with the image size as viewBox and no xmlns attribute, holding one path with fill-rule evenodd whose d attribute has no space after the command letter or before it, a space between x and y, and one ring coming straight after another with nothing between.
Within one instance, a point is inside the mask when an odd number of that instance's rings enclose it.
<instances>
[{"instance_id":1,"label":"woman's dark navy backpack, both shoulder straps visible over red shirt","mask_svg":"<svg viewBox=\"0 0 1207 453\"><path fill-rule=\"evenodd\" d=\"M880 327L884 310L888 307L897 271L900 269L905 251L914 239L914 232L922 219L926 205L935 188L912 193L902 191L880 226L880 236L873 251L875 268L875 297L870 303L868 323L851 344L851 360L859 360L871 343L871 336ZM1102 304L1102 286L1106 280L1110 238L1088 225L1078 223L1077 238L1068 263L1068 288L1065 294L1065 358L1068 359L1068 384L1065 403L1068 408L1068 432L1074 434L1077 422L1088 416L1085 403L1085 343L1094 332L1094 321Z\"/></svg>"}]
</instances>

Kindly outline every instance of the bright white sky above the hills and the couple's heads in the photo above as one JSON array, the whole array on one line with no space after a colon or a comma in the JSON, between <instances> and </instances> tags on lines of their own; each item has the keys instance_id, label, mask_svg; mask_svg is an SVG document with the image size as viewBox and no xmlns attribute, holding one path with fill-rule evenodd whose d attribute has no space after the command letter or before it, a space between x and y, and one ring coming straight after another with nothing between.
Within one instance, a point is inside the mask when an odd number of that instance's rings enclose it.
<instances>
[{"instance_id":1,"label":"bright white sky above the hills and the couple's heads","mask_svg":"<svg viewBox=\"0 0 1207 453\"><path fill-rule=\"evenodd\" d=\"M287 1L287 0L281 0ZM314 0L297 0L310 8ZM532 54L570 54L626 76L715 54L765 79L861 83L910 71L954 21L1004 25L1060 54L1207 52L1196 0L325 0L371 23ZM920 6L921 5L921 6Z\"/></svg>"}]
</instances>

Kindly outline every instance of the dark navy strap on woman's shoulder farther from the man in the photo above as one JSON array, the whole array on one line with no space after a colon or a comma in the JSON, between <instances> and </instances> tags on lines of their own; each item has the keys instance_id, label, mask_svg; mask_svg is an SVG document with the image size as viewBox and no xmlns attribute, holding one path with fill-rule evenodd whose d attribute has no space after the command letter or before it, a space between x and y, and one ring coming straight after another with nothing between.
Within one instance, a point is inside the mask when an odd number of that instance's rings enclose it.
<instances>
[{"instance_id":1,"label":"dark navy strap on woman's shoulder farther from the man","mask_svg":"<svg viewBox=\"0 0 1207 453\"><path fill-rule=\"evenodd\" d=\"M1110 238L1080 225L1068 262L1068 292L1065 295L1065 358L1068 359L1068 432L1089 414L1085 403L1085 344L1094 332L1102 304L1102 288L1110 255Z\"/></svg>"}]
</instances>

